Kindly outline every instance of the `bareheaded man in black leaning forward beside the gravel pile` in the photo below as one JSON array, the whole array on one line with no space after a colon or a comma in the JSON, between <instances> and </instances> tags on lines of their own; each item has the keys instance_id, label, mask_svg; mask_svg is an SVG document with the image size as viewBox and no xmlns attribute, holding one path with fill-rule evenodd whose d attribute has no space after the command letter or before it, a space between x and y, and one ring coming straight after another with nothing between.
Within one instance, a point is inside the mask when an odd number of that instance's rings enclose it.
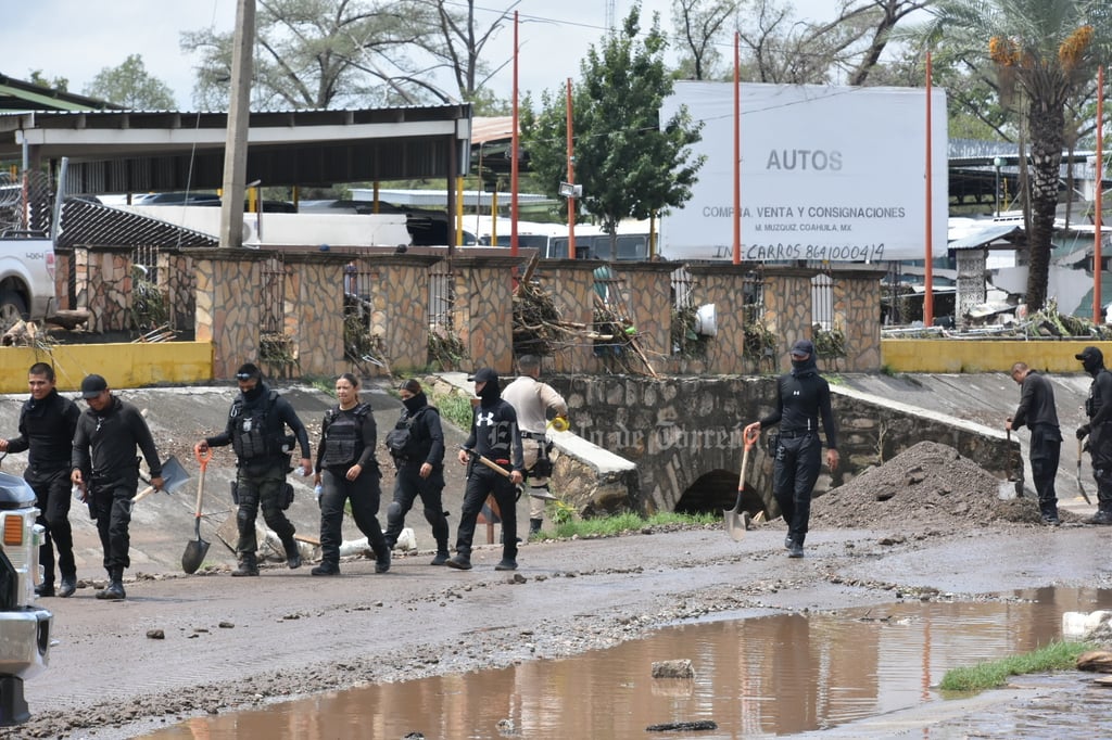
<instances>
[{"instance_id":1,"label":"bareheaded man in black leaning forward beside the gravel pile","mask_svg":"<svg viewBox=\"0 0 1112 740\"><path fill-rule=\"evenodd\" d=\"M1026 424L1031 430L1031 477L1039 494L1039 511L1043 522L1058 526L1058 493L1054 478L1062 457L1062 431L1058 426L1054 388L1050 381L1032 370L1025 362L1012 366L1012 380L1020 383L1020 406L1004 421L1011 431Z\"/></svg>"}]
</instances>

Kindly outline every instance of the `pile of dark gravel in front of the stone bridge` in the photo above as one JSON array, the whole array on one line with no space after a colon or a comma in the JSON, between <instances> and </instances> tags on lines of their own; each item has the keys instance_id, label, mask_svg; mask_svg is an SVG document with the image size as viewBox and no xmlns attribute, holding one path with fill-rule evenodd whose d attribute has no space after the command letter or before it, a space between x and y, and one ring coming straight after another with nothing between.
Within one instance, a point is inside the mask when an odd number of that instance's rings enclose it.
<instances>
[{"instance_id":1,"label":"pile of dark gravel in front of the stone bridge","mask_svg":"<svg viewBox=\"0 0 1112 740\"><path fill-rule=\"evenodd\" d=\"M974 529L1039 523L1031 498L1002 500L1001 479L957 451L920 442L811 504L812 529Z\"/></svg>"}]
</instances>

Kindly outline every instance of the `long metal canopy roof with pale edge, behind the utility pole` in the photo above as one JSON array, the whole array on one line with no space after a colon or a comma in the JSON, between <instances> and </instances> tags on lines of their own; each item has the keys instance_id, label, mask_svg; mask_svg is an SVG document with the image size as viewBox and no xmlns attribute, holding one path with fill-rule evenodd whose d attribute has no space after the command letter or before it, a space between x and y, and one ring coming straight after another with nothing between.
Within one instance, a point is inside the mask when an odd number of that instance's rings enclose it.
<instances>
[{"instance_id":1,"label":"long metal canopy roof with pale edge, behind the utility pole","mask_svg":"<svg viewBox=\"0 0 1112 740\"><path fill-rule=\"evenodd\" d=\"M247 179L319 186L466 172L469 104L255 112ZM227 113L27 112L0 114L0 159L31 167L69 158L67 192L222 187Z\"/></svg>"}]
</instances>

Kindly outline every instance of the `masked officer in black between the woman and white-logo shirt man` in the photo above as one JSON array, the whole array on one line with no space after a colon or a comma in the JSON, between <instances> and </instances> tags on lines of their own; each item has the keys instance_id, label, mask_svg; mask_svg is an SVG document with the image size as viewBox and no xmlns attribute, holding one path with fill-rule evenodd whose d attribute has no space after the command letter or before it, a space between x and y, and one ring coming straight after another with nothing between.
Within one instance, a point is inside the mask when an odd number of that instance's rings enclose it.
<instances>
[{"instance_id":1,"label":"masked officer in black between the woman and white-logo shirt man","mask_svg":"<svg viewBox=\"0 0 1112 740\"><path fill-rule=\"evenodd\" d=\"M413 378L403 382L398 392L405 409L394 430L405 432L406 443L397 450L387 446L397 476L394 479L394 501L386 508L386 542L391 548L397 543L406 526L406 514L419 496L425 521L433 527L436 540L436 556L429 564L443 566L448 562L450 531L443 499L444 429L440 427L440 412L429 406L420 383Z\"/></svg>"}]
</instances>

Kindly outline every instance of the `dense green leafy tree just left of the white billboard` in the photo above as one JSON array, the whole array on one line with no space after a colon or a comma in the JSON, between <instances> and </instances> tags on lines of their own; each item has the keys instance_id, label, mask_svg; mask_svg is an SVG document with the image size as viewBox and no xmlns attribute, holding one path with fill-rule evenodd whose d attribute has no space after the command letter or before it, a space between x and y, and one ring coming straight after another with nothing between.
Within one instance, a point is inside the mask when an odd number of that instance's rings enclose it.
<instances>
[{"instance_id":1,"label":"dense green leafy tree just left of the white billboard","mask_svg":"<svg viewBox=\"0 0 1112 740\"><path fill-rule=\"evenodd\" d=\"M658 18L646 34L639 20L637 3L600 48L590 47L583 79L573 87L575 181L583 186L576 203L612 238L622 219L646 219L686 202L703 164L691 151L702 124L686 111L661 124L661 103L673 88L663 59L667 41ZM564 93L546 91L542 110L526 107L522 117L530 167L552 196L567 164L564 101Z\"/></svg>"}]
</instances>

